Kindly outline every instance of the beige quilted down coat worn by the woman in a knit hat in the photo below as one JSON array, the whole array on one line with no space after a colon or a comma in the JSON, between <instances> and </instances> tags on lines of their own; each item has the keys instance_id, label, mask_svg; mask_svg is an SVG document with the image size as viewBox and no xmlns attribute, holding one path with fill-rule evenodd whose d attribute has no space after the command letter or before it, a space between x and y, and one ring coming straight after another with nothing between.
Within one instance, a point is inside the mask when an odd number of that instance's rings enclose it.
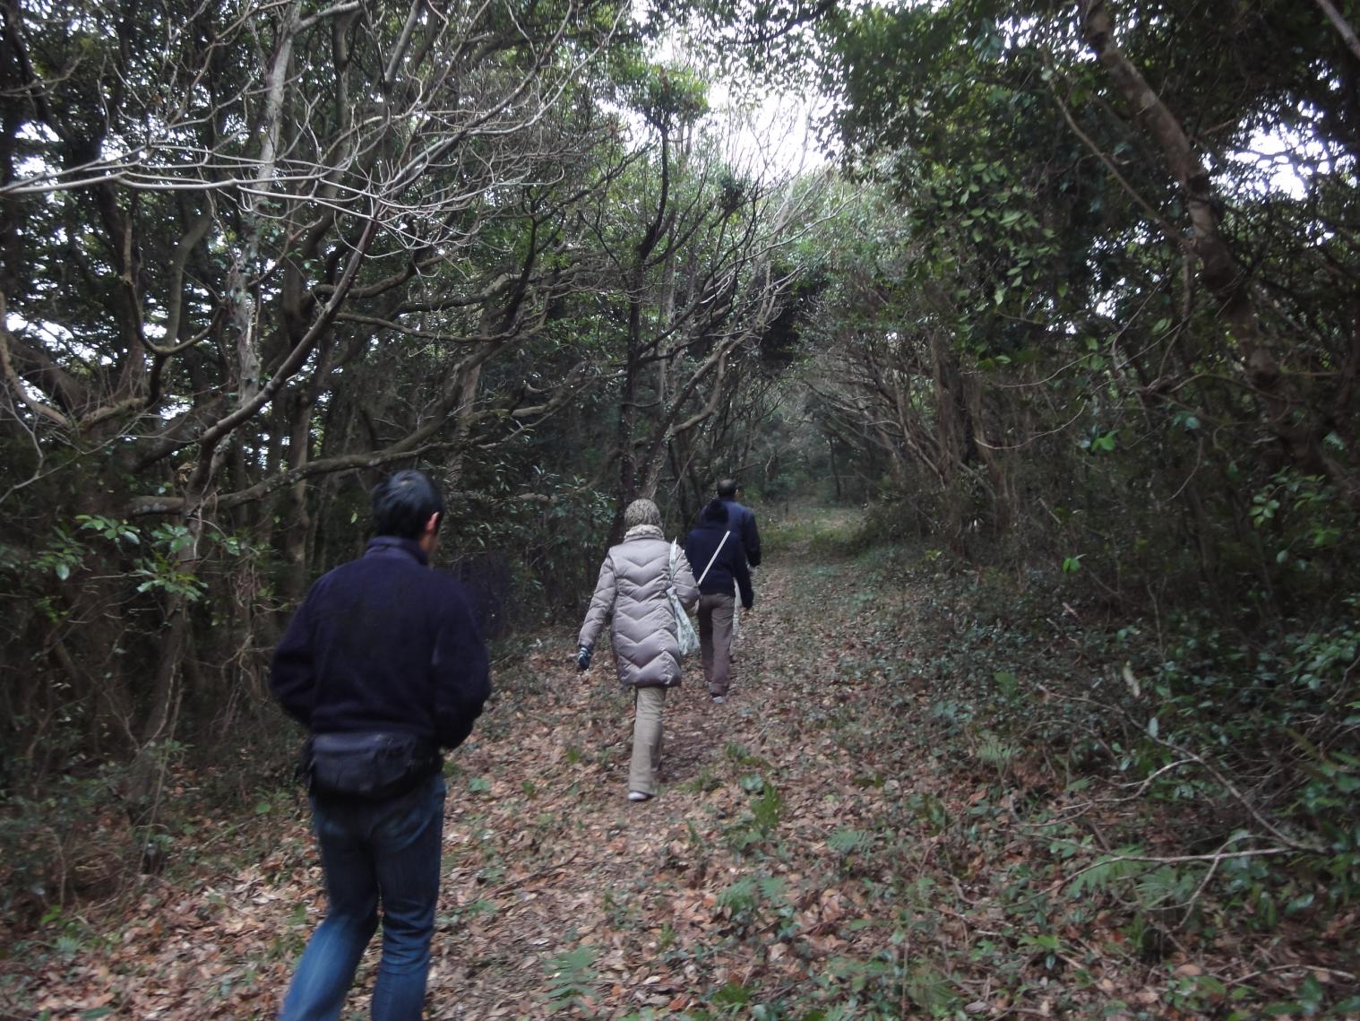
<instances>
[{"instance_id":1,"label":"beige quilted down coat worn by the woman in a knit hat","mask_svg":"<svg viewBox=\"0 0 1360 1021\"><path fill-rule=\"evenodd\" d=\"M660 528L639 524L623 542L609 549L600 568L579 645L594 647L605 619L613 615L613 656L619 683L626 687L669 687L680 683L680 647L676 619L666 599L670 543ZM685 560L676 561L676 595L688 609L699 599L699 587Z\"/></svg>"}]
</instances>

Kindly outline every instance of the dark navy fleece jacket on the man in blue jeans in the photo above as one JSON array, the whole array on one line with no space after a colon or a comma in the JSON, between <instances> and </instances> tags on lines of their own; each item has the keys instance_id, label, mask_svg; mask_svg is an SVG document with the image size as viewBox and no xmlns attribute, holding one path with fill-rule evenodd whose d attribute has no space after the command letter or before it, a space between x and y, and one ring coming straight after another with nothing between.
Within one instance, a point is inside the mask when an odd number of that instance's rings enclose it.
<instances>
[{"instance_id":1,"label":"dark navy fleece jacket on the man in blue jeans","mask_svg":"<svg viewBox=\"0 0 1360 1021\"><path fill-rule=\"evenodd\" d=\"M461 584L412 539L378 536L311 587L273 653L269 687L313 734L400 731L457 747L491 696Z\"/></svg>"}]
</instances>

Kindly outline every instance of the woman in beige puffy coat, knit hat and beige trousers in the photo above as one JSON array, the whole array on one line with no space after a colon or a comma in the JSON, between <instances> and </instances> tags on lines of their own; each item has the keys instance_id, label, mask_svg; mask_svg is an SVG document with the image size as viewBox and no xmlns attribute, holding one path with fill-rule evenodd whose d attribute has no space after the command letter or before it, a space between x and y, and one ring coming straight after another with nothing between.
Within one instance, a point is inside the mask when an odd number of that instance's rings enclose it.
<instances>
[{"instance_id":1,"label":"woman in beige puffy coat, knit hat and beige trousers","mask_svg":"<svg viewBox=\"0 0 1360 1021\"><path fill-rule=\"evenodd\" d=\"M670 543L661 531L661 512L656 504L634 500L623 513L623 523L627 528L623 542L605 554L586 621L581 625L577 667L590 667L596 637L612 615L619 682L634 692L628 800L645 802L657 792L661 708L666 689L680 683L680 645L666 588L675 584L676 595L688 609L698 602L699 587L683 549L675 577L670 577Z\"/></svg>"}]
</instances>

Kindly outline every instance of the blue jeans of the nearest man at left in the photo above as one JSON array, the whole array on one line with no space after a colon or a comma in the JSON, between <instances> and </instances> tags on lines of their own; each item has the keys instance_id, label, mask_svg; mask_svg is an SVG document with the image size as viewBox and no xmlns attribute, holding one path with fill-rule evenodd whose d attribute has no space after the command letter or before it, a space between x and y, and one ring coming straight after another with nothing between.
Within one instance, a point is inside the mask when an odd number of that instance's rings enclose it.
<instances>
[{"instance_id":1,"label":"blue jeans of the nearest man at left","mask_svg":"<svg viewBox=\"0 0 1360 1021\"><path fill-rule=\"evenodd\" d=\"M298 962L280 1021L336 1021L378 927L373 1021L419 1021L443 843L442 775L388 802L311 799L329 911Z\"/></svg>"}]
</instances>

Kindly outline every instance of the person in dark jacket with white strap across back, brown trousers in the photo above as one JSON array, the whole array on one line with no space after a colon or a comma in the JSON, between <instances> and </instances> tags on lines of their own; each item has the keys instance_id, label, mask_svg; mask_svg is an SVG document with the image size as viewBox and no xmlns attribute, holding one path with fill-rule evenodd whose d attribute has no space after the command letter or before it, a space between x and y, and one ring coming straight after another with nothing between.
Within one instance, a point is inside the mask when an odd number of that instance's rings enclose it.
<instances>
[{"instance_id":1,"label":"person in dark jacket with white strap across back, brown trousers","mask_svg":"<svg viewBox=\"0 0 1360 1021\"><path fill-rule=\"evenodd\" d=\"M703 677L713 701L725 702L732 686L732 621L737 602L733 592L741 592L741 606L747 610L755 604L755 594L741 535L721 500L711 501L699 512L699 524L685 538L684 551L699 579Z\"/></svg>"}]
</instances>

